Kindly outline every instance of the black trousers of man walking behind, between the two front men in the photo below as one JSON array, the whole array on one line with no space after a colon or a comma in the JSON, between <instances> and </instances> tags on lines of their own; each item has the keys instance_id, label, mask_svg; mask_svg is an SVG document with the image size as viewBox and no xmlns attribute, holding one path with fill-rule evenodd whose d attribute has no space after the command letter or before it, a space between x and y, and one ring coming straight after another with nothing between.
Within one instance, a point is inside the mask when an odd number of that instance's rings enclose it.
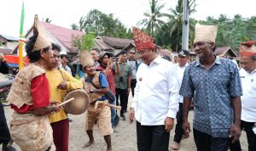
<instances>
[{"instance_id":1,"label":"black trousers of man walking behind, between the two front men","mask_svg":"<svg viewBox=\"0 0 256 151\"><path fill-rule=\"evenodd\" d=\"M176 115L177 124L175 126L174 142L180 143L183 138L183 103L179 103Z\"/></svg>"}]
</instances>

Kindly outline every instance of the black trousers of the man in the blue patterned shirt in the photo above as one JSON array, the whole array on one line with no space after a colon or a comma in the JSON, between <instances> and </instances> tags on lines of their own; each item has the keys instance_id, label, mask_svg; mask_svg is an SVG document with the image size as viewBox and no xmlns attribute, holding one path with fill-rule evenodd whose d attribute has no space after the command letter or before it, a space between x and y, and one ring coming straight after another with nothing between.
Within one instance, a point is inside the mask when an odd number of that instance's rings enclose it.
<instances>
[{"instance_id":1,"label":"black trousers of the man in the blue patterned shirt","mask_svg":"<svg viewBox=\"0 0 256 151\"><path fill-rule=\"evenodd\" d=\"M197 151L227 151L229 148L228 137L212 137L211 135L197 131L194 128L193 133Z\"/></svg>"}]
</instances>

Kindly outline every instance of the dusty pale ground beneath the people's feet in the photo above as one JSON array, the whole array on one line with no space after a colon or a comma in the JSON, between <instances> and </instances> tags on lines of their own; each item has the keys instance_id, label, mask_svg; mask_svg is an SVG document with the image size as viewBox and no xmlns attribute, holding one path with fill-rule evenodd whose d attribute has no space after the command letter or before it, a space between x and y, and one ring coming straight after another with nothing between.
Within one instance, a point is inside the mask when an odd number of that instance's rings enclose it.
<instances>
[{"instance_id":1,"label":"dusty pale ground beneath the people's feet","mask_svg":"<svg viewBox=\"0 0 256 151\"><path fill-rule=\"evenodd\" d=\"M129 99L131 100L131 98ZM129 104L131 101L129 101ZM129 105L130 106L130 105ZM128 108L130 109L130 107ZM9 122L12 109L9 107L5 107L5 115ZM128 119L128 113L125 114L126 119ZM82 144L87 142L89 139L84 131L84 114L83 115L69 115L69 118L73 121L70 122L70 134L69 134L69 150L70 151L103 151L106 150L106 144L104 142L103 137L99 135L97 128L95 128L94 136L95 136L95 144L90 146L89 148L81 148ZM193 111L189 112L189 120L192 124ZM136 138L136 125L135 122L130 124L128 120L120 120L119 126L117 126L116 131L114 132L112 137L112 144L114 151L136 151L137 150L137 138ZM171 131L170 137L170 147L172 144L172 139L174 135L174 130ZM242 131L241 136L241 147L243 150L247 150L247 142L246 142L245 132ZM20 151L20 148L14 143L15 148ZM1 147L2 148L2 147ZM170 148L170 151L172 148ZM180 151L195 151L195 143L193 139L193 135L191 134L189 138L184 139L181 142Z\"/></svg>"}]
</instances>

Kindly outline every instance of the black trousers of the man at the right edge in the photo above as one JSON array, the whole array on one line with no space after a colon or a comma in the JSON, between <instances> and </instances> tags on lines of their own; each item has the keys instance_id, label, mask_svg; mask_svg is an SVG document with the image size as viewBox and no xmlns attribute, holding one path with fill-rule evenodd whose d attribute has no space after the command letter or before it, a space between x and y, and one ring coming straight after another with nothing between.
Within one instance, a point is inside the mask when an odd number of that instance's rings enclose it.
<instances>
[{"instance_id":1,"label":"black trousers of the man at the right edge","mask_svg":"<svg viewBox=\"0 0 256 151\"><path fill-rule=\"evenodd\" d=\"M247 133L248 151L256 150L256 134L253 133L254 122L247 122L241 120L241 130L244 129ZM241 151L240 142L231 143L230 139L230 151Z\"/></svg>"}]
</instances>

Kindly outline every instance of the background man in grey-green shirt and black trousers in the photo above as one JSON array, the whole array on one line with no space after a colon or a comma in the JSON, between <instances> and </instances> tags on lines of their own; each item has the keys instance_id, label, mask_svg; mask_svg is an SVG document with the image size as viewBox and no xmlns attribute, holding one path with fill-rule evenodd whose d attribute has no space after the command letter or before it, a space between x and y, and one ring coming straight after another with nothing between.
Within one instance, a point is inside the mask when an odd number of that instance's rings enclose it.
<instances>
[{"instance_id":1,"label":"background man in grey-green shirt and black trousers","mask_svg":"<svg viewBox=\"0 0 256 151\"><path fill-rule=\"evenodd\" d=\"M128 97L131 91L131 68L126 62L127 54L125 51L119 53L119 69L120 74L114 76L114 86L116 92L117 104L121 105L120 119L125 120L125 112L127 112ZM116 64L113 65L114 68ZM120 98L120 103L119 103Z\"/></svg>"}]
</instances>

